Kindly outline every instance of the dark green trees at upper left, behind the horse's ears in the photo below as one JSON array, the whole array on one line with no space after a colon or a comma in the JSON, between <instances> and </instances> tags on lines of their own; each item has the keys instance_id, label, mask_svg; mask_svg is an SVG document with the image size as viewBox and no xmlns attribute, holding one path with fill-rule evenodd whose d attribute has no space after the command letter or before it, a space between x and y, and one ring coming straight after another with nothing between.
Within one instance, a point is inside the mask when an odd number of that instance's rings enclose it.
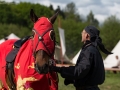
<instances>
[{"instance_id":1,"label":"dark green trees at upper left, behind the horse's ears","mask_svg":"<svg viewBox=\"0 0 120 90\"><path fill-rule=\"evenodd\" d=\"M51 10L40 4L31 4L26 2L12 3L12 4L0 4L0 23L13 23L21 26L26 26L28 28L32 27L32 22L30 20L30 9L34 9L36 14L41 16L50 17L52 15Z\"/></svg>"}]
</instances>

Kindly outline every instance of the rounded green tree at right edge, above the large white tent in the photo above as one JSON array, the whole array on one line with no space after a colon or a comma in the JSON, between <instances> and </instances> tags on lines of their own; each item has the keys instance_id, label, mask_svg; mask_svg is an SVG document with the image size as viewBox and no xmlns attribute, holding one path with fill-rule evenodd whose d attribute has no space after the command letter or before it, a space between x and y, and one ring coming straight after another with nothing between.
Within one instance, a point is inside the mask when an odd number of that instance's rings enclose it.
<instances>
[{"instance_id":1,"label":"rounded green tree at right edge, above the large white tent","mask_svg":"<svg viewBox=\"0 0 120 90\"><path fill-rule=\"evenodd\" d=\"M120 20L116 16L110 16L104 21L100 30L104 45L111 51L120 40Z\"/></svg>"}]
</instances>

